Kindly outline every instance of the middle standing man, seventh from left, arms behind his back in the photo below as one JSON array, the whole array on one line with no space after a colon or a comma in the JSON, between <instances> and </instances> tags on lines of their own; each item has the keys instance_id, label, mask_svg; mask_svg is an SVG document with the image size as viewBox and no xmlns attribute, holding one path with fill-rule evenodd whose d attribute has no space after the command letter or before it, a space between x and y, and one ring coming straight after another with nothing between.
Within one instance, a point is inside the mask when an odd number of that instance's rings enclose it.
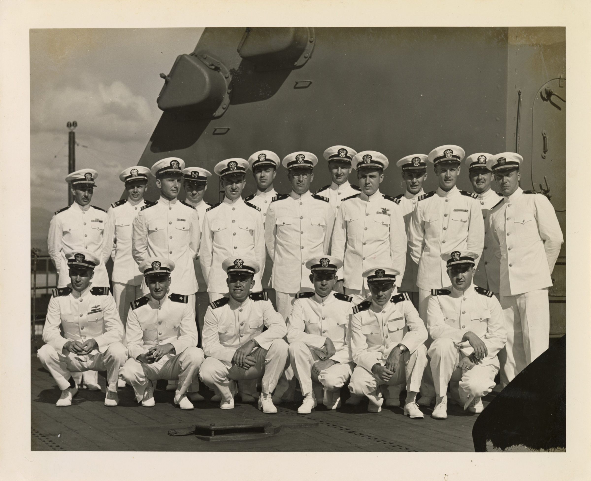
<instances>
[{"instance_id":1,"label":"middle standing man, seventh from left, arms behind his back","mask_svg":"<svg viewBox=\"0 0 591 481\"><path fill-rule=\"evenodd\" d=\"M273 260L271 283L277 310L287 319L296 294L313 290L306 261L329 250L335 214L326 197L310 193L317 157L294 152L284 157L291 193L275 196L267 210L265 244Z\"/></svg>"}]
</instances>

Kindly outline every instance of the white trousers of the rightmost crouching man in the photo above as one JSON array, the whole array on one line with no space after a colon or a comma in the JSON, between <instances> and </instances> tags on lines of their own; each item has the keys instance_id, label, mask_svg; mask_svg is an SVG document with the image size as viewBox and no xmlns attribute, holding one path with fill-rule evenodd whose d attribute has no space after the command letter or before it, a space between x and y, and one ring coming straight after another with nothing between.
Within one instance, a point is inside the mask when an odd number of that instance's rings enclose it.
<instances>
[{"instance_id":1,"label":"white trousers of the rightmost crouching man","mask_svg":"<svg viewBox=\"0 0 591 481\"><path fill-rule=\"evenodd\" d=\"M462 373L457 364L465 356L451 339L445 337L434 340L428 353L437 396L447 395L450 381L459 382L460 400L466 407L473 399L483 398L495 387L495 376L499 370L498 359L486 366L476 364Z\"/></svg>"}]
</instances>

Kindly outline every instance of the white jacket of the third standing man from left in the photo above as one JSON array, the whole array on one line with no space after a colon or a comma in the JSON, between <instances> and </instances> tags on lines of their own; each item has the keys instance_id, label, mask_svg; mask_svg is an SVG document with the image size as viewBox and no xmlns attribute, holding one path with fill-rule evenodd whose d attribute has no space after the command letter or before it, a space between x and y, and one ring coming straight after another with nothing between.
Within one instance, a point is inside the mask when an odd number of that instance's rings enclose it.
<instances>
[{"instance_id":1,"label":"white jacket of the third standing man from left","mask_svg":"<svg viewBox=\"0 0 591 481\"><path fill-rule=\"evenodd\" d=\"M197 211L190 205L163 197L155 205L144 206L133 224L132 252L140 264L148 257L165 257L174 262L170 291L197 292L193 259L199 252L201 229ZM142 281L145 286L145 281ZM147 288L144 288L146 292Z\"/></svg>"}]
</instances>

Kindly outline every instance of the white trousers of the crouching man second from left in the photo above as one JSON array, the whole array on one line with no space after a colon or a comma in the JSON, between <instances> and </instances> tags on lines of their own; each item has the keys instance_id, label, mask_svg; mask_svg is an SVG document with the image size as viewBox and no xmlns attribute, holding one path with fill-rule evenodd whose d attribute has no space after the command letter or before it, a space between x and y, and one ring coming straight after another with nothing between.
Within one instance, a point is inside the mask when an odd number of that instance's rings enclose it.
<instances>
[{"instance_id":1,"label":"white trousers of the crouching man second from left","mask_svg":"<svg viewBox=\"0 0 591 481\"><path fill-rule=\"evenodd\" d=\"M203 363L204 354L199 347L187 347L180 354L166 354L159 361L144 364L131 357L121 370L125 382L131 384L135 391L135 399L142 400L148 380L158 379L177 380L179 395L188 392L198 392L197 371Z\"/></svg>"}]
</instances>

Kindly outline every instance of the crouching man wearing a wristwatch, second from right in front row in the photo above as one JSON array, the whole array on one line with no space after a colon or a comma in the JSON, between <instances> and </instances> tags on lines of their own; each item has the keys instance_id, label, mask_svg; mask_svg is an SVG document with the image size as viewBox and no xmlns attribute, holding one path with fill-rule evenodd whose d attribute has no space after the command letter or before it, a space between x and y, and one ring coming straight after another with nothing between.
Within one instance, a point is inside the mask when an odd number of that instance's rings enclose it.
<instances>
[{"instance_id":1,"label":"crouching man wearing a wristwatch, second from right in front row","mask_svg":"<svg viewBox=\"0 0 591 481\"><path fill-rule=\"evenodd\" d=\"M357 366L349 390L369 398L369 412L380 412L384 402L380 386L387 386L386 406L400 406L392 392L400 393L397 386L406 381L404 414L423 418L415 399L427 366L427 329L408 293L392 296L398 274L386 267L363 273L371 298L353 308L351 348Z\"/></svg>"}]
</instances>

